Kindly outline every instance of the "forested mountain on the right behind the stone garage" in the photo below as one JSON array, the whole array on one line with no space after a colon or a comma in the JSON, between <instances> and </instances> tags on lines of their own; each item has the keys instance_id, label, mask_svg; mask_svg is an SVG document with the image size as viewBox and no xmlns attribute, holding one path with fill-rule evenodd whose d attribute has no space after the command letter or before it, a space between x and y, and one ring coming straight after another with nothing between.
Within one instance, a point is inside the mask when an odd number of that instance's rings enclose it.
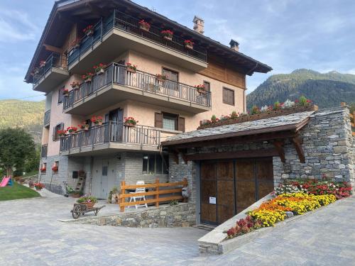
<instances>
[{"instance_id":1,"label":"forested mountain on the right behind the stone garage","mask_svg":"<svg viewBox=\"0 0 355 266\"><path fill-rule=\"evenodd\" d=\"M271 105L275 101L311 99L320 108L339 106L340 102L355 102L355 75L336 71L320 73L295 70L290 74L274 74L246 96L246 106Z\"/></svg>"}]
</instances>

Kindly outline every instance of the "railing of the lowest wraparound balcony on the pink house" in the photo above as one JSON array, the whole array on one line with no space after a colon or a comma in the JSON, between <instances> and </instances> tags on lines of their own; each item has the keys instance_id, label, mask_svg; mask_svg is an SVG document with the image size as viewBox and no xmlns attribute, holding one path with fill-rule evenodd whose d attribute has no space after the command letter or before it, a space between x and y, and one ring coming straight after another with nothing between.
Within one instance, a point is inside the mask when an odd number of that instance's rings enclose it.
<instances>
[{"instance_id":1,"label":"railing of the lowest wraparound balcony on the pink house","mask_svg":"<svg viewBox=\"0 0 355 266\"><path fill-rule=\"evenodd\" d=\"M160 131L150 126L126 126L124 123L110 121L102 126L94 126L88 131L60 138L60 152L74 148L104 143L131 143L158 146Z\"/></svg>"}]
</instances>

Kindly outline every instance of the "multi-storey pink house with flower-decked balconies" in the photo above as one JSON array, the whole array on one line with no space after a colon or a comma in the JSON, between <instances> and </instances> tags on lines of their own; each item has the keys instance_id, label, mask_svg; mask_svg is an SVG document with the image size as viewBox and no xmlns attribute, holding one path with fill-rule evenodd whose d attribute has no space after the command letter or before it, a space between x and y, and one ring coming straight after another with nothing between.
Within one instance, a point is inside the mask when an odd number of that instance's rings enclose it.
<instances>
[{"instance_id":1,"label":"multi-storey pink house with flower-decked balconies","mask_svg":"<svg viewBox=\"0 0 355 266\"><path fill-rule=\"evenodd\" d=\"M246 75L271 67L235 40L228 47L204 36L202 18L193 22L194 30L128 0L55 1L25 77L46 95L41 182L105 199L122 180L168 181L161 141L212 114L246 111ZM58 133L83 121L87 130Z\"/></svg>"}]
</instances>

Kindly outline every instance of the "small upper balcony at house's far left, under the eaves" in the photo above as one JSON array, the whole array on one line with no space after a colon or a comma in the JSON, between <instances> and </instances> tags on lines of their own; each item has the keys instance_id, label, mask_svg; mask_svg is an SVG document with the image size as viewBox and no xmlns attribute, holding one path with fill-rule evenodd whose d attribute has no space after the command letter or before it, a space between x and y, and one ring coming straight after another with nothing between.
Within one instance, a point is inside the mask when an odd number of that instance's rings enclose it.
<instances>
[{"instance_id":1,"label":"small upper balcony at house's far left, under the eaves","mask_svg":"<svg viewBox=\"0 0 355 266\"><path fill-rule=\"evenodd\" d=\"M66 60L53 53L45 60L45 65L33 75L33 90L50 92L68 77Z\"/></svg>"}]
</instances>

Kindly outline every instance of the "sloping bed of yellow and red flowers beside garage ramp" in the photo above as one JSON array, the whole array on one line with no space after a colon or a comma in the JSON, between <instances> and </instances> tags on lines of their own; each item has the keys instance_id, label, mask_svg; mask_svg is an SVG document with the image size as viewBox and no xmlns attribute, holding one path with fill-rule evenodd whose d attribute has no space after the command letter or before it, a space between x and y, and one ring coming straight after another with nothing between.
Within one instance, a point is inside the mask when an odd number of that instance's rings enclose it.
<instances>
[{"instance_id":1,"label":"sloping bed of yellow and red flowers beside garage ramp","mask_svg":"<svg viewBox=\"0 0 355 266\"><path fill-rule=\"evenodd\" d=\"M261 227L275 226L287 218L287 211L302 215L351 195L348 182L297 179L289 180L275 189L274 199L263 202L257 209L249 211L246 218L224 233L226 238L244 235Z\"/></svg>"}]
</instances>

